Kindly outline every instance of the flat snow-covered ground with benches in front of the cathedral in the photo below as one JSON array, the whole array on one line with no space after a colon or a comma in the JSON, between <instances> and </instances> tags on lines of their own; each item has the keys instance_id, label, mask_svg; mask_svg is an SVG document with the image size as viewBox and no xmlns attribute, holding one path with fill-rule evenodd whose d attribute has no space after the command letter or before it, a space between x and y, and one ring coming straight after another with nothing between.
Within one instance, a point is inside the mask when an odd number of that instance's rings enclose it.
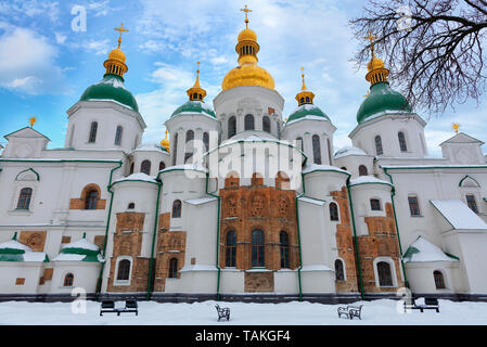
<instances>
[{"instance_id":1,"label":"flat snow-covered ground with benches in front of the cathedral","mask_svg":"<svg viewBox=\"0 0 487 347\"><path fill-rule=\"evenodd\" d=\"M399 304L398 304L399 303ZM117 303L119 306L123 303ZM307 301L283 304L218 303L231 309L230 321L217 321L216 301L194 304L158 304L140 301L139 316L114 313L99 316L100 304L87 301L86 313L72 312L71 303L0 303L0 324L56 324L56 325L346 325L346 324L422 324L422 325L478 325L487 324L487 303L454 303L439 300L440 312L414 310L403 313L397 310L400 301L382 299L363 301L362 320L339 319L336 309L341 305L322 305ZM77 306L79 309L79 306Z\"/></svg>"}]
</instances>

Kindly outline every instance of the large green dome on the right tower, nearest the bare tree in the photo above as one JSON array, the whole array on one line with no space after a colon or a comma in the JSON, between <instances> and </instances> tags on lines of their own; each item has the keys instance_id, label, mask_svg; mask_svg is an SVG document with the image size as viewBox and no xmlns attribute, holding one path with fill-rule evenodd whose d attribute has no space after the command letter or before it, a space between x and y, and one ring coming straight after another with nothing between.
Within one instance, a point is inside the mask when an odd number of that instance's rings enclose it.
<instances>
[{"instance_id":1,"label":"large green dome on the right tower, nearest the bare tree","mask_svg":"<svg viewBox=\"0 0 487 347\"><path fill-rule=\"evenodd\" d=\"M357 121L363 123L369 117L383 112L411 112L406 98L392 89L388 82L379 82L370 87L369 97L363 100L357 112Z\"/></svg>"}]
</instances>

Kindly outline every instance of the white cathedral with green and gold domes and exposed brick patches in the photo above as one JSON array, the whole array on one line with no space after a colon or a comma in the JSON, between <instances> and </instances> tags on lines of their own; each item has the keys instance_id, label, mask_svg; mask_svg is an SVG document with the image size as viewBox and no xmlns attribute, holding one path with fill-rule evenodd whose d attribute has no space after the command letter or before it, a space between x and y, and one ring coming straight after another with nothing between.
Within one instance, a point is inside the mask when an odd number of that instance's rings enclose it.
<instances>
[{"instance_id":1,"label":"white cathedral with green and gold domes and exposed brick patches","mask_svg":"<svg viewBox=\"0 0 487 347\"><path fill-rule=\"evenodd\" d=\"M282 114L247 20L213 107L197 75L166 139L143 143L119 41L67 111L64 147L34 126L5 134L0 299L485 298L483 142L459 132L428 156L371 46L353 146L335 150L304 75Z\"/></svg>"}]
</instances>

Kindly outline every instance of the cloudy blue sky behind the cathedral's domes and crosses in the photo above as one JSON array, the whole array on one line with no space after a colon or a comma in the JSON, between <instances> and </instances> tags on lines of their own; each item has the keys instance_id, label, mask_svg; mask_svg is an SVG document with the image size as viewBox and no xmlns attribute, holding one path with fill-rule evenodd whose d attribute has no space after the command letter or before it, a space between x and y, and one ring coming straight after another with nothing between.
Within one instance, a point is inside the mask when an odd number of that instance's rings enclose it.
<instances>
[{"instance_id":1,"label":"cloudy blue sky behind the cathedral's domes and crosses","mask_svg":"<svg viewBox=\"0 0 487 347\"><path fill-rule=\"evenodd\" d=\"M127 55L126 87L136 95L148 128L144 142L164 138L164 121L187 101L185 90L201 62L206 102L220 92L226 73L236 65L236 36L245 26L243 12L253 10L249 27L257 33L259 65L275 80L284 97L283 117L296 107L300 67L315 104L337 127L335 149L349 145L348 133L369 85L366 69L350 59L366 41L353 38L348 20L364 1L351 0L88 0L0 1L0 136L28 125L48 136L49 147L64 145L66 110L104 74L103 62L116 47L114 30L123 22L121 49ZM74 31L73 7L87 12L87 30ZM392 81L393 87L397 81ZM470 102L444 116L425 120L430 154L453 134L451 124L480 140L487 133L483 105ZM0 144L5 144L3 138Z\"/></svg>"}]
</instances>

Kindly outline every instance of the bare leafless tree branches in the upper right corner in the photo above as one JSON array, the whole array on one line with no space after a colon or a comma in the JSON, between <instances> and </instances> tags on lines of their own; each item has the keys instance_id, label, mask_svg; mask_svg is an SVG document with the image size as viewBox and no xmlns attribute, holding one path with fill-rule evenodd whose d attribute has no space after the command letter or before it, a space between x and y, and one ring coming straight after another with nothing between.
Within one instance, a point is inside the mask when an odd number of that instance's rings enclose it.
<instances>
[{"instance_id":1,"label":"bare leafless tree branches in the upper right corner","mask_svg":"<svg viewBox=\"0 0 487 347\"><path fill-rule=\"evenodd\" d=\"M410 104L431 114L475 100L485 91L483 46L487 0L369 0L350 21L356 38L368 33L390 78ZM370 60L370 44L355 55Z\"/></svg>"}]
</instances>

